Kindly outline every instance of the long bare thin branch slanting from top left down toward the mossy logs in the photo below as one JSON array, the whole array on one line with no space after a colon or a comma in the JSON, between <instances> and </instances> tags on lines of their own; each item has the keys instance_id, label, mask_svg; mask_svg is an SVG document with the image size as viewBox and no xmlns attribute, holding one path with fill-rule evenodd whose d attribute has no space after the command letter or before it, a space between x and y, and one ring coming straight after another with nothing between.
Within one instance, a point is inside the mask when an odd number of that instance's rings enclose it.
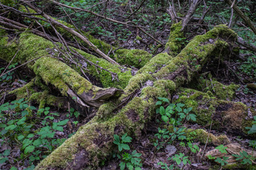
<instances>
[{"instance_id":1,"label":"long bare thin branch slanting from top left down toward the mossy logs","mask_svg":"<svg viewBox=\"0 0 256 170\"><path fill-rule=\"evenodd\" d=\"M24 1L26 2L26 4L32 8L33 10L35 10L38 13L42 13L42 16L44 18L46 18L50 23L52 23L53 25L59 26L60 28L63 28L64 30L68 31L69 33L72 33L73 35L77 36L78 38L80 38L82 41L84 41L89 47L92 48L92 50L94 50L95 52L97 52L98 55L100 55L101 57L105 58L105 60L111 62L112 64L117 64L119 65L117 62L115 62L114 60L112 60L112 58L108 57L107 55L105 55L104 52L102 52L101 50L99 50L94 44L92 44L92 42L90 42L90 40L88 40L84 35L81 35L80 33L78 33L76 30L73 30L72 28L69 28L68 26L63 25L62 23L59 23L58 21L55 21L53 18L51 18L50 16L48 16L46 13L43 13L40 9L36 8L35 6L33 6L32 4L30 4L28 1Z\"/></svg>"}]
</instances>

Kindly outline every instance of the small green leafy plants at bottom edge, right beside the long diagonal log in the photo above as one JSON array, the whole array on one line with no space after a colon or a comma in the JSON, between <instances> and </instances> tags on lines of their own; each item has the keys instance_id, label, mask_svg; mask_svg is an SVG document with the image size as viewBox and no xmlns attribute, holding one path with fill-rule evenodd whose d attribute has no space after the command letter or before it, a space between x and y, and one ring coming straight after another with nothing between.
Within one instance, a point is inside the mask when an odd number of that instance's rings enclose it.
<instances>
[{"instance_id":1,"label":"small green leafy plants at bottom edge, right beside the long diagonal log","mask_svg":"<svg viewBox=\"0 0 256 170\"><path fill-rule=\"evenodd\" d=\"M121 138L119 138L118 135L114 135L114 144L118 146L120 154L113 154L113 157L121 159L119 164L121 170L125 167L129 170L140 170L142 167L142 163L140 163L142 159L139 159L139 157L141 157L142 154L137 153L137 150L132 151L131 154L123 152L124 150L130 150L129 145L127 145L129 142L132 142L132 137L127 136L127 133L122 135Z\"/></svg>"}]
</instances>

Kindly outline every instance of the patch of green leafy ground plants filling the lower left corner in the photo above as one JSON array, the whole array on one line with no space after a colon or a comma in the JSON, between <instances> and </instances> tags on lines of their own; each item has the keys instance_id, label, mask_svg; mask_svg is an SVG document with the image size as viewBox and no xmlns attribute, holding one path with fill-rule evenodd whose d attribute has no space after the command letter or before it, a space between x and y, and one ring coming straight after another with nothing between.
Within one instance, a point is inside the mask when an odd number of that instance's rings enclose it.
<instances>
[{"instance_id":1,"label":"patch of green leafy ground plants filling the lower left corner","mask_svg":"<svg viewBox=\"0 0 256 170\"><path fill-rule=\"evenodd\" d=\"M33 164L45 158L66 140L55 139L55 133L63 132L63 126L69 119L53 122L56 117L58 118L59 114L50 113L49 107L36 111L35 107L28 106L24 98L4 103L0 106L1 145L19 148L21 156L17 161L26 159L31 165L27 169L33 169ZM5 149L4 153L0 154L0 164L9 161L9 154L10 149ZM13 169L16 167L13 166Z\"/></svg>"}]
</instances>

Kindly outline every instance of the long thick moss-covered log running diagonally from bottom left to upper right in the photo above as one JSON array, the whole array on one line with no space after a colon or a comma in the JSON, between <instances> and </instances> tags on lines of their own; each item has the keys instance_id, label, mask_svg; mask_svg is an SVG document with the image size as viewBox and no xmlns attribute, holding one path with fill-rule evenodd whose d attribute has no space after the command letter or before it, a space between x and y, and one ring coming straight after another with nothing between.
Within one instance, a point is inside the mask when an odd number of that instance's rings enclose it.
<instances>
[{"instance_id":1,"label":"long thick moss-covered log running diagonally from bottom left to upper right","mask_svg":"<svg viewBox=\"0 0 256 170\"><path fill-rule=\"evenodd\" d=\"M235 38L236 34L226 27L214 28L194 38L172 60L166 53L156 55L130 79L125 94L115 102L100 106L95 118L80 127L36 169L97 169L100 160L106 159L114 148L114 134L128 132L139 137L145 123L154 115L156 98L167 97L191 81L215 52L228 50L228 40ZM196 67L198 64L201 67Z\"/></svg>"}]
</instances>

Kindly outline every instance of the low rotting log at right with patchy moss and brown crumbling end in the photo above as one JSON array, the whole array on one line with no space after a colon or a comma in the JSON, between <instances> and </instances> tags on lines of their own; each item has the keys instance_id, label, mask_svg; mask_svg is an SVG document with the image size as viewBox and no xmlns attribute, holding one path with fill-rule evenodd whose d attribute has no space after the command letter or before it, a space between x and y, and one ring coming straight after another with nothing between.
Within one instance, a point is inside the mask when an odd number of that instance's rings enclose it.
<instances>
[{"instance_id":1,"label":"low rotting log at right with patchy moss and brown crumbling end","mask_svg":"<svg viewBox=\"0 0 256 170\"><path fill-rule=\"evenodd\" d=\"M256 111L245 104L228 101L228 98L233 97L238 86L218 84L218 89L223 90L223 96L219 96L219 98L211 91L203 93L193 89L180 89L181 92L176 94L178 99L175 102L181 102L187 107L193 108L192 113L197 115L199 125L210 125L212 122L214 130L248 136L246 127L252 126Z\"/></svg>"}]
</instances>

